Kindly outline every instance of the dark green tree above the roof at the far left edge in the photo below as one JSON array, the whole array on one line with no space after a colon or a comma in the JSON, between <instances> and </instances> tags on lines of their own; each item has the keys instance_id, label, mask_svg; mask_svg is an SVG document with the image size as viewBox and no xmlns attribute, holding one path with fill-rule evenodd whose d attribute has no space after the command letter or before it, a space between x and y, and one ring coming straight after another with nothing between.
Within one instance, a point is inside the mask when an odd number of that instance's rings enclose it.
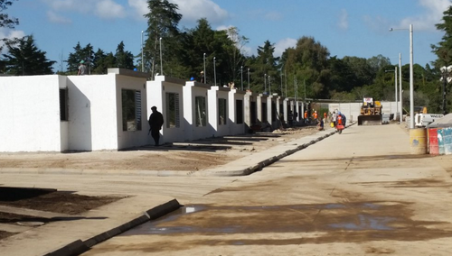
<instances>
[{"instance_id":1,"label":"dark green tree above the roof at the far left edge","mask_svg":"<svg viewBox=\"0 0 452 256\"><path fill-rule=\"evenodd\" d=\"M53 74L52 65L56 61L47 59L46 52L38 49L33 35L5 40L5 46L7 53L3 54L3 62L7 74L14 76Z\"/></svg>"}]
</instances>

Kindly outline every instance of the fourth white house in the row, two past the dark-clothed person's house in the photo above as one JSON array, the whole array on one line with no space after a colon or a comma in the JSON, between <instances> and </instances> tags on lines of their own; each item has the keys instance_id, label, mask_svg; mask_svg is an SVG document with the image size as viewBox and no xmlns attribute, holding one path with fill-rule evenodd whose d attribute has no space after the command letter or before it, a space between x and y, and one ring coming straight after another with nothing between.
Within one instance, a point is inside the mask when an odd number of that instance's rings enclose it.
<instances>
[{"instance_id":1,"label":"fourth white house in the row, two past the dark-clothed person's house","mask_svg":"<svg viewBox=\"0 0 452 256\"><path fill-rule=\"evenodd\" d=\"M208 135L208 137L221 137L230 134L230 91L229 87L211 87L207 92L210 130L205 135Z\"/></svg>"}]
</instances>

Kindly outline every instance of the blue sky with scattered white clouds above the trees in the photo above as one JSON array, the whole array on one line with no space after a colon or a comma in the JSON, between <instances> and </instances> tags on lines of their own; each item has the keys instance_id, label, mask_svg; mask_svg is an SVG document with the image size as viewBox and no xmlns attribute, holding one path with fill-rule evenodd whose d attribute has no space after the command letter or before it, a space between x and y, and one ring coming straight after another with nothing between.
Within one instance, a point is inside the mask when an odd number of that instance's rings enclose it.
<instances>
[{"instance_id":1,"label":"blue sky with scattered white clouds above the trees","mask_svg":"<svg viewBox=\"0 0 452 256\"><path fill-rule=\"evenodd\" d=\"M275 56L294 47L299 38L313 37L330 56L372 58L382 55L402 65L410 63L410 24L413 59L421 66L436 59L431 44L444 32L436 29L450 0L169 0L178 5L181 30L192 29L206 18L212 29L231 26L249 38L246 55L257 54L264 41L275 46ZM5 10L19 19L14 30L0 28L0 38L33 34L47 58L57 61L54 71L65 70L80 42L94 50L141 52L142 31L149 13L146 0L18 0ZM390 32L390 28L394 31ZM146 39L146 38L145 38ZM163 40L165 43L165 40ZM203 52L200 52L202 55ZM164 57L165 58L165 57Z\"/></svg>"}]
</instances>

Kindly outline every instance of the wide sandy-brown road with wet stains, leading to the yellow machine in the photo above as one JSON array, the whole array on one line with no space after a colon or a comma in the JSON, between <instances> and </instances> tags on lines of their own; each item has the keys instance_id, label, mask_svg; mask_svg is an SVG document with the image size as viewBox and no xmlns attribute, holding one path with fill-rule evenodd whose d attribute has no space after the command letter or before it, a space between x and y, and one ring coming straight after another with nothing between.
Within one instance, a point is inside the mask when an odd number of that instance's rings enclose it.
<instances>
[{"instance_id":1,"label":"wide sandy-brown road with wet stains, leading to the yellow machine","mask_svg":"<svg viewBox=\"0 0 452 256\"><path fill-rule=\"evenodd\" d=\"M247 177L128 181L184 208L83 255L451 255L437 160L410 155L399 125L355 125Z\"/></svg>"}]
</instances>

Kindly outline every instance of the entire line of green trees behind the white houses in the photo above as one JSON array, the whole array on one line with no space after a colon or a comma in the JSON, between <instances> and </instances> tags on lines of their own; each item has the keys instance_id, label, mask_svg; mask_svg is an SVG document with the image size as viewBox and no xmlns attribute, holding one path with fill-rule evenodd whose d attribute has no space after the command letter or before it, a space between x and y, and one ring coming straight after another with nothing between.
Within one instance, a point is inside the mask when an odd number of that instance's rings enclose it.
<instances>
[{"instance_id":1,"label":"entire line of green trees behind the white houses","mask_svg":"<svg viewBox=\"0 0 452 256\"><path fill-rule=\"evenodd\" d=\"M0 0L0 27L14 28L18 24L17 19L4 14L13 1ZM178 13L178 5L168 0L148 0L147 5L143 51L139 49L134 55L125 50L122 41L116 52L95 50L91 44L81 46L78 42L65 60L67 70L57 73L76 74L80 60L84 60L90 74L105 74L108 68L141 70L143 67L151 78L163 70L165 76L199 80L205 67L207 83L218 86L234 83L235 87L243 86L256 93L338 101L363 97L395 100L393 70L398 65L392 65L384 56L337 58L309 36L301 36L296 46L287 48L281 57L275 56L275 44L270 41L264 41L257 54L250 56L244 51L249 39L236 27L213 30L208 20L201 18L193 29L181 30L182 14ZM448 113L452 106L448 92L452 88L440 81L449 75L440 68L452 65L452 6L444 12L437 29L445 33L442 41L431 45L438 59L431 66L414 65L414 102L428 106L430 113ZM33 35L4 41L7 52L0 59L3 73L15 76L53 73L55 61L46 59L46 52L36 47ZM409 109L410 65L402 66L401 74L403 106ZM446 109L442 109L444 92Z\"/></svg>"}]
</instances>

